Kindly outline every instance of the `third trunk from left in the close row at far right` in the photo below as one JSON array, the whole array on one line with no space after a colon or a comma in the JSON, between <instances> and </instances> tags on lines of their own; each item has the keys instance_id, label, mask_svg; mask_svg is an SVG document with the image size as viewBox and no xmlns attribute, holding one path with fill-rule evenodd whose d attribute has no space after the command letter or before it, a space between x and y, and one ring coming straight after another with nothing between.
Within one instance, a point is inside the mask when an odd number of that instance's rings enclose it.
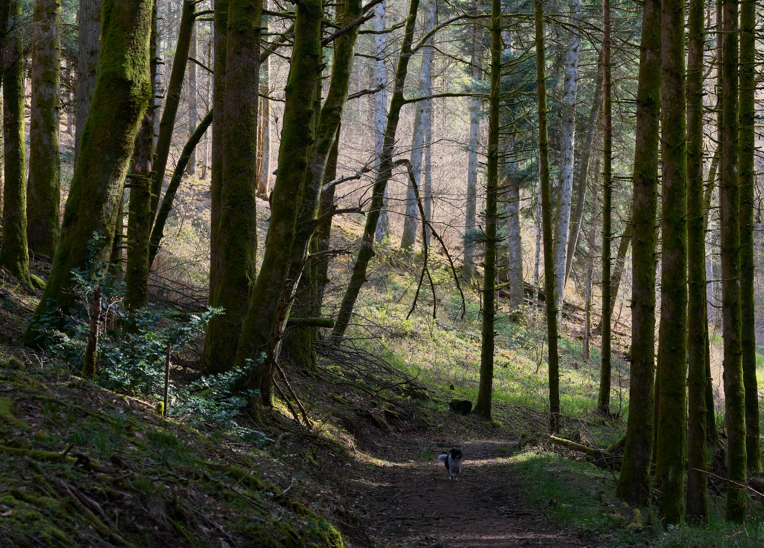
<instances>
[{"instance_id":1,"label":"third trunk from left in the close row at far right","mask_svg":"<svg viewBox=\"0 0 764 548\"><path fill-rule=\"evenodd\" d=\"M703 196L704 0L689 12L687 70L688 472L687 516L708 522L706 470L706 235Z\"/></svg>"}]
</instances>

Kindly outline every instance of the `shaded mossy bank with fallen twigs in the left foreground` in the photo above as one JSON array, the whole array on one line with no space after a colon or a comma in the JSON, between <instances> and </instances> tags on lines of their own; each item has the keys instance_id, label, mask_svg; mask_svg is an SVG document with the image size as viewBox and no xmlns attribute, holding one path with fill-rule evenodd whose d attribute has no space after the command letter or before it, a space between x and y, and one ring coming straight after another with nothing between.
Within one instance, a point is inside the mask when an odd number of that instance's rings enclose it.
<instances>
[{"instance_id":1,"label":"shaded mossy bank with fallen twigs in the left foreground","mask_svg":"<svg viewBox=\"0 0 764 548\"><path fill-rule=\"evenodd\" d=\"M343 546L358 520L277 443L163 420L151 402L0 362L0 545Z\"/></svg>"}]
</instances>

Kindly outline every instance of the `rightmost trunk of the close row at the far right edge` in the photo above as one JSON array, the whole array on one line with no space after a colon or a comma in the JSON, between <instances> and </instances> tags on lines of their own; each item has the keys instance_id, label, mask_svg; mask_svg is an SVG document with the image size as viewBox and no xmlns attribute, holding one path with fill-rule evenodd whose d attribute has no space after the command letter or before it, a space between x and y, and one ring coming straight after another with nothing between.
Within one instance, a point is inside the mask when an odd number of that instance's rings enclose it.
<instances>
[{"instance_id":1,"label":"rightmost trunk of the close row at the far right edge","mask_svg":"<svg viewBox=\"0 0 764 548\"><path fill-rule=\"evenodd\" d=\"M746 390L746 463L761 472L759 389L756 383L756 303L753 296L753 156L756 135L756 0L740 0L740 343Z\"/></svg>"}]
</instances>

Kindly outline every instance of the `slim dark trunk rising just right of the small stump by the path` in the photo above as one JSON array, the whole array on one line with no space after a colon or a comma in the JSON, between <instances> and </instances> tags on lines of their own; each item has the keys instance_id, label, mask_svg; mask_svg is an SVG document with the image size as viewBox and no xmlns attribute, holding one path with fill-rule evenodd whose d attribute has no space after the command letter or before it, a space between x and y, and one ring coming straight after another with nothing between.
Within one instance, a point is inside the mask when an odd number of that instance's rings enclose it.
<instances>
[{"instance_id":1,"label":"slim dark trunk rising just right of the small stump by the path","mask_svg":"<svg viewBox=\"0 0 764 548\"><path fill-rule=\"evenodd\" d=\"M543 44L543 43L542 43ZM543 45L542 45L543 48ZM496 316L496 221L499 190L499 103L501 99L501 0L490 8L490 93L488 95L487 184L483 262L483 334L480 384L475 413L490 419L494 391L494 317Z\"/></svg>"}]
</instances>

